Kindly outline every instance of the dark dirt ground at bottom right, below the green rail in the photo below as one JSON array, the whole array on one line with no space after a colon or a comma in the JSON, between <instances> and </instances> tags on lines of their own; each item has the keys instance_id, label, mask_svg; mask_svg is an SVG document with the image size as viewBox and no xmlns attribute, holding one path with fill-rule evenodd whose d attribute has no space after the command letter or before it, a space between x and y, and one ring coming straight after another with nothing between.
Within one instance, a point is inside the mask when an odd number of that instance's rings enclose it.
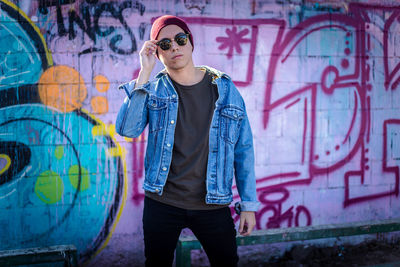
<instances>
[{"instance_id":1,"label":"dark dirt ground at bottom right, below the green rail","mask_svg":"<svg viewBox=\"0 0 400 267\"><path fill-rule=\"evenodd\" d=\"M400 241L369 241L358 245L318 247L296 245L281 257L272 257L263 266L368 266L400 262Z\"/></svg>"}]
</instances>

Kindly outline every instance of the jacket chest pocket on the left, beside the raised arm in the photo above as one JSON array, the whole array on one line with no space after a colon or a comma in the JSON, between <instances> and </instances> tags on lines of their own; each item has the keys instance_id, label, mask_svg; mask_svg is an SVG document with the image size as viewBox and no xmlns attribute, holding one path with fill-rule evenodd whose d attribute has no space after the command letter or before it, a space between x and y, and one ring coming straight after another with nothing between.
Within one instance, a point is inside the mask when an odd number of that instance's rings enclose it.
<instances>
[{"instance_id":1,"label":"jacket chest pocket on the left, beside the raised arm","mask_svg":"<svg viewBox=\"0 0 400 267\"><path fill-rule=\"evenodd\" d=\"M166 100L150 96L147 102L149 110L149 131L155 132L164 129L165 116L167 113L168 103Z\"/></svg>"}]
</instances>

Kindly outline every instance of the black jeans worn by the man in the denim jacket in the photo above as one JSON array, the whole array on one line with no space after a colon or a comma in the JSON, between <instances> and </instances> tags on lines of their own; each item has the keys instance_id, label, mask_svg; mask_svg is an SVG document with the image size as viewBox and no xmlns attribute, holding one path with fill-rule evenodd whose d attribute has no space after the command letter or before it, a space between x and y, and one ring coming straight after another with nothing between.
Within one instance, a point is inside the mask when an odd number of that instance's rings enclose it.
<instances>
[{"instance_id":1,"label":"black jeans worn by the man in the denim jacket","mask_svg":"<svg viewBox=\"0 0 400 267\"><path fill-rule=\"evenodd\" d=\"M230 209L185 210L144 199L143 232L146 266L172 266L179 235L192 230L211 266L237 266L236 230Z\"/></svg>"}]
</instances>

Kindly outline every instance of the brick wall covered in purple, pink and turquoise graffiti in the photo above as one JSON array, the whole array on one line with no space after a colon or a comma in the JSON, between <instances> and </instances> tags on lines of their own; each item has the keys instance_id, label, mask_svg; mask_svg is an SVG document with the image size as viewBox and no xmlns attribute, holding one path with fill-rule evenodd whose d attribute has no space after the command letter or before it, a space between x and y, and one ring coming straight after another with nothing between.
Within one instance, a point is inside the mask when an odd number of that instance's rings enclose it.
<instances>
[{"instance_id":1,"label":"brick wall covered in purple, pink and turquoise graffiti","mask_svg":"<svg viewBox=\"0 0 400 267\"><path fill-rule=\"evenodd\" d=\"M0 249L143 264L147 130L115 133L117 85L163 14L246 102L257 229L400 212L397 1L0 0Z\"/></svg>"}]
</instances>

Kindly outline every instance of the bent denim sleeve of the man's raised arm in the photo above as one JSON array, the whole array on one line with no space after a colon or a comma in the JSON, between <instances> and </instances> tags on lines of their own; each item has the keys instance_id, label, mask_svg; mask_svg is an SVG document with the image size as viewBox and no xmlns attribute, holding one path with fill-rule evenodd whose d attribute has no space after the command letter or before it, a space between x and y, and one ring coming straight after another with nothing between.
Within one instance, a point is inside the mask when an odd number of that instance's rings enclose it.
<instances>
[{"instance_id":1,"label":"bent denim sleeve of the man's raised arm","mask_svg":"<svg viewBox=\"0 0 400 267\"><path fill-rule=\"evenodd\" d=\"M138 137L147 125L150 82L135 88L136 80L119 86L127 96L118 112L115 129L121 136Z\"/></svg>"}]
</instances>

